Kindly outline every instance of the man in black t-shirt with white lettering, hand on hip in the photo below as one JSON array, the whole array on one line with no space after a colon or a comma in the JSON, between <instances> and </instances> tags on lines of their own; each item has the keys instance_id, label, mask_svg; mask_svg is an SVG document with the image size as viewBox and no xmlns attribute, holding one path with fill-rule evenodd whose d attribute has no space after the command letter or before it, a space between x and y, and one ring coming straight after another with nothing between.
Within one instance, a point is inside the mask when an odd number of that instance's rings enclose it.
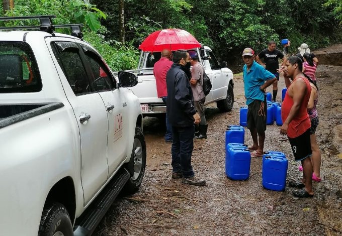
<instances>
[{"instance_id":1,"label":"man in black t-shirt with white lettering, hand on hip","mask_svg":"<svg viewBox=\"0 0 342 236\"><path fill-rule=\"evenodd\" d=\"M265 64L261 61L261 58L264 58ZM282 59L283 63L281 68L279 69L279 62L278 59ZM278 80L279 80L279 73L285 68L285 64L287 58L284 54L276 49L276 42L271 40L269 42L268 48L262 50L255 60L260 64L266 67L268 71L270 71L274 76L277 78L276 81L273 83L273 101L276 101L277 93L278 93Z\"/></svg>"}]
</instances>

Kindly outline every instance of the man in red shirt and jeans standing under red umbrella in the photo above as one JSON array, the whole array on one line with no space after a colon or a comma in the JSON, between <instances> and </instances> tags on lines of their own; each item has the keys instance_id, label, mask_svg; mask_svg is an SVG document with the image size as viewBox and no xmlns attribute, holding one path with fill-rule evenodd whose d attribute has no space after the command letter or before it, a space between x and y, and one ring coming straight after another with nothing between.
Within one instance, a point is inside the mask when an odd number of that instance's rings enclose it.
<instances>
[{"instance_id":1,"label":"man in red shirt and jeans standing under red umbrella","mask_svg":"<svg viewBox=\"0 0 342 236\"><path fill-rule=\"evenodd\" d=\"M174 64L171 59L171 52L167 49L164 49L161 52L161 58L159 61L154 63L153 66L153 74L155 77L155 84L157 86L157 95L166 105L167 100L167 89L166 89L166 73ZM165 134L165 142L172 143L172 127L168 122L166 115L166 134Z\"/></svg>"}]
</instances>

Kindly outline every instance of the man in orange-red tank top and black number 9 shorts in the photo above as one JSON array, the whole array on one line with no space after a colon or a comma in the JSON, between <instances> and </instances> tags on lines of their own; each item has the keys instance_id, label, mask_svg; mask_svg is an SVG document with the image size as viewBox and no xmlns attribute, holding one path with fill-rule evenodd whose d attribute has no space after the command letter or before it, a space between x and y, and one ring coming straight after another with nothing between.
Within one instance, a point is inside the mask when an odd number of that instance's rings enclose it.
<instances>
[{"instance_id":1,"label":"man in orange-red tank top and black number 9 shorts","mask_svg":"<svg viewBox=\"0 0 342 236\"><path fill-rule=\"evenodd\" d=\"M288 136L295 160L301 161L303 166L302 181L290 180L289 182L291 187L300 188L294 190L293 195L296 197L313 197L311 123L306 109L311 94L311 86L302 70L303 63L300 58L293 56L286 62L284 77L288 89L282 104L283 126L280 133ZM288 77L291 78L292 83Z\"/></svg>"}]
</instances>

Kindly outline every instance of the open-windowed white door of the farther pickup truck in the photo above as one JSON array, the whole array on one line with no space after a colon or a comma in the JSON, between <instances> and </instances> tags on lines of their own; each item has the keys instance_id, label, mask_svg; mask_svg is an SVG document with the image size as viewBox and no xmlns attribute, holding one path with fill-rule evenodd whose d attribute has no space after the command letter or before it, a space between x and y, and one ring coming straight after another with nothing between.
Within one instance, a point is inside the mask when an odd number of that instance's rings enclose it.
<instances>
[{"instance_id":1,"label":"open-windowed white door of the farther pickup truck","mask_svg":"<svg viewBox=\"0 0 342 236\"><path fill-rule=\"evenodd\" d=\"M218 63L214 53L210 50L206 50L208 61L212 70L212 76L213 80L213 96L212 100L215 100L217 98L223 97L227 95L227 87L228 87L228 77L225 78L225 74L221 70L221 66Z\"/></svg>"}]
</instances>

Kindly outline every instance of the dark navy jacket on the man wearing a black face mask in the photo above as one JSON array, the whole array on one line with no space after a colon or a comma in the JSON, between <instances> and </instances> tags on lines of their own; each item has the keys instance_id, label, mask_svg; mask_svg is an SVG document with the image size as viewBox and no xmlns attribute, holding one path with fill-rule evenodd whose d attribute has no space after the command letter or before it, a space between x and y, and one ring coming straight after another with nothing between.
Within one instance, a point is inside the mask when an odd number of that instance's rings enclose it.
<instances>
[{"instance_id":1,"label":"dark navy jacket on the man wearing a black face mask","mask_svg":"<svg viewBox=\"0 0 342 236\"><path fill-rule=\"evenodd\" d=\"M174 63L166 74L166 114L168 122L175 127L194 125L194 97L186 75L188 69Z\"/></svg>"}]
</instances>

